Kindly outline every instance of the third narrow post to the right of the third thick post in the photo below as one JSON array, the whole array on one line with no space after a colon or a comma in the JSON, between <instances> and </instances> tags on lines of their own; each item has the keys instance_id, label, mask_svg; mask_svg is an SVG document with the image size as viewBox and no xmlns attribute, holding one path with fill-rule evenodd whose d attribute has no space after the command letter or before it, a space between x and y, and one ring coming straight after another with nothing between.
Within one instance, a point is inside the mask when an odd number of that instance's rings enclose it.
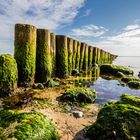
<instances>
[{"instance_id":1,"label":"third narrow post to the right of the third thick post","mask_svg":"<svg viewBox=\"0 0 140 140\"><path fill-rule=\"evenodd\" d=\"M76 69L79 70L79 64L80 64L80 47L81 42L77 42L77 53L76 53Z\"/></svg>"}]
</instances>

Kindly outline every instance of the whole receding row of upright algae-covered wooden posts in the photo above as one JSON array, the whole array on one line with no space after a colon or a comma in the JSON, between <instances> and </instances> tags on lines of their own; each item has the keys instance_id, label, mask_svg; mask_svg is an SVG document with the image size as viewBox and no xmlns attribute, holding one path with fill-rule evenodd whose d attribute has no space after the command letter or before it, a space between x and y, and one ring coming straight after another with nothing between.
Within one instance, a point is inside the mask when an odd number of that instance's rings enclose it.
<instances>
[{"instance_id":1,"label":"whole receding row of upright algae-covered wooden posts","mask_svg":"<svg viewBox=\"0 0 140 140\"><path fill-rule=\"evenodd\" d=\"M50 77L67 78L73 69L86 71L112 61L116 55L46 29L16 24L14 58L19 82L33 83Z\"/></svg>"}]
</instances>

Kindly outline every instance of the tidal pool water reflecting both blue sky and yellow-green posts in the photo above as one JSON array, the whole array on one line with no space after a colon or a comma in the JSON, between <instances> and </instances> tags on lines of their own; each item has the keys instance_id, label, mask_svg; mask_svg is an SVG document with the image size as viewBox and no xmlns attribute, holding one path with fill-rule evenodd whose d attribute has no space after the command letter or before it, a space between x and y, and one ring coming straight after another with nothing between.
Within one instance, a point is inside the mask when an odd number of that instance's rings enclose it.
<instances>
[{"instance_id":1,"label":"tidal pool water reflecting both blue sky and yellow-green posts","mask_svg":"<svg viewBox=\"0 0 140 140\"><path fill-rule=\"evenodd\" d=\"M130 89L127 86L122 86L118 80L101 76L99 68L94 68L81 77L71 77L70 80L74 82L75 86L81 85L95 89L97 93L96 102L99 104L117 100L124 93L140 96L140 90Z\"/></svg>"}]
</instances>

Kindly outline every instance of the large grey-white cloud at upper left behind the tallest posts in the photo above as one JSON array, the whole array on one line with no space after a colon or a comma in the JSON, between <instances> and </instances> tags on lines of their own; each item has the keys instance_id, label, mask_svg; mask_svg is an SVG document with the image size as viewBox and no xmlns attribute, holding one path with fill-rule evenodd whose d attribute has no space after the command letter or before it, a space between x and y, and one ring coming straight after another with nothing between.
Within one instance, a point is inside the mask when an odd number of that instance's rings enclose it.
<instances>
[{"instance_id":1,"label":"large grey-white cloud at upper left behind the tallest posts","mask_svg":"<svg viewBox=\"0 0 140 140\"><path fill-rule=\"evenodd\" d=\"M85 0L0 0L0 46L9 44L2 40L14 39L15 23L59 30L74 21L84 3Z\"/></svg>"}]
</instances>

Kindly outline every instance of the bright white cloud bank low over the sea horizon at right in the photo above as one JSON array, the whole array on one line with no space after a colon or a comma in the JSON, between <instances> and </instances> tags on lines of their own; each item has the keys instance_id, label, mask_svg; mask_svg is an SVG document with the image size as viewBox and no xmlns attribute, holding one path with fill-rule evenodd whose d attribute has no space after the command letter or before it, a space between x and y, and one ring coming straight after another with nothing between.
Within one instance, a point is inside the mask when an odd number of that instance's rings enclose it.
<instances>
[{"instance_id":1,"label":"bright white cloud bank low over the sea horizon at right","mask_svg":"<svg viewBox=\"0 0 140 140\"><path fill-rule=\"evenodd\" d=\"M95 45L118 55L140 56L140 26L128 25L121 33L104 37Z\"/></svg>"}]
</instances>

